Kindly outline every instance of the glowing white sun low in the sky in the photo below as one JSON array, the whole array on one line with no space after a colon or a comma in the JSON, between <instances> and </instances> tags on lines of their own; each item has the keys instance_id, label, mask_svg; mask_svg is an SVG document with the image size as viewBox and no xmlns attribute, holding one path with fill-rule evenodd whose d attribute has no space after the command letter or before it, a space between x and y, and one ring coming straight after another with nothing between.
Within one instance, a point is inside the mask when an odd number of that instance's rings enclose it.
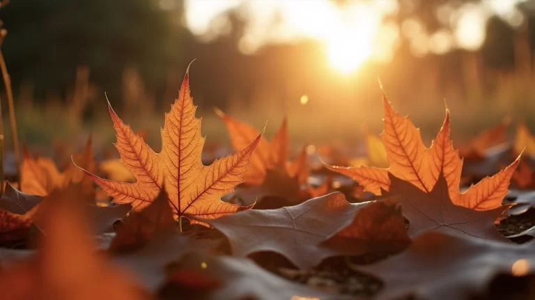
<instances>
[{"instance_id":1,"label":"glowing white sun low in the sky","mask_svg":"<svg viewBox=\"0 0 535 300\"><path fill-rule=\"evenodd\" d=\"M373 52L378 17L364 5L341 10L338 22L329 25L325 39L329 63L341 72L354 72Z\"/></svg>"}]
</instances>

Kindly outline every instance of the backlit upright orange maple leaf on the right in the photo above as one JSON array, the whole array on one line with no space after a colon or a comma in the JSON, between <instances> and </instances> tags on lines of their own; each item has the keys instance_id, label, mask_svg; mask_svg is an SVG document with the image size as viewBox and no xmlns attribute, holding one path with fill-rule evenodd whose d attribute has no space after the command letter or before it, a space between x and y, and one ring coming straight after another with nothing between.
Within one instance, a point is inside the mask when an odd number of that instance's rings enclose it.
<instances>
[{"instance_id":1,"label":"backlit upright orange maple leaf on the right","mask_svg":"<svg viewBox=\"0 0 535 300\"><path fill-rule=\"evenodd\" d=\"M389 172L426 192L433 189L440 173L444 173L449 196L454 204L474 210L492 210L502 206L502 200L507 194L509 181L518 166L520 157L496 175L484 178L461 194L459 184L463 160L460 159L458 151L453 148L453 142L449 138L449 110L446 109L446 117L436 139L430 148L426 148L421 141L419 129L414 127L410 119L394 111L386 95L383 97L383 102L385 129L381 137L385 143L390 167L327 165L327 168L351 177L366 191L376 195L380 194L380 189L389 190Z\"/></svg>"}]
</instances>

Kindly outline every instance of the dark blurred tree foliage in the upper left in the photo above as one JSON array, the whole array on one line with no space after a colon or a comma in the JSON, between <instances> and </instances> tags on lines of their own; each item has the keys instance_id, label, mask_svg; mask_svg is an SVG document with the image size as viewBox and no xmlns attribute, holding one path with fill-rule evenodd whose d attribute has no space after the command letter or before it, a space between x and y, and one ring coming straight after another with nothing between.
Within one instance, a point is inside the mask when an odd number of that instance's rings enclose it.
<instances>
[{"instance_id":1,"label":"dark blurred tree foliage in the upper left","mask_svg":"<svg viewBox=\"0 0 535 300\"><path fill-rule=\"evenodd\" d=\"M3 51L15 90L33 81L38 97L64 92L77 66L86 65L91 81L112 95L128 67L162 93L169 65L182 60L180 39L191 38L171 22L183 13L183 1L175 1L173 11L153 0L12 1L0 18L8 29Z\"/></svg>"}]
</instances>

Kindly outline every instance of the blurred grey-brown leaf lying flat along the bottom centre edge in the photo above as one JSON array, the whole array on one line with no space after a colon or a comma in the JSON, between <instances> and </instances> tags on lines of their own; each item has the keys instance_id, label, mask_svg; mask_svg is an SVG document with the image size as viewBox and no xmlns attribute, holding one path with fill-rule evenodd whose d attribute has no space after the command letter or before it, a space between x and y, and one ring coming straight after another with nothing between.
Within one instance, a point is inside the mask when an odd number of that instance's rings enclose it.
<instances>
[{"instance_id":1,"label":"blurred grey-brown leaf lying flat along the bottom centre edge","mask_svg":"<svg viewBox=\"0 0 535 300\"><path fill-rule=\"evenodd\" d=\"M222 283L221 287L212 287L208 291L199 290L199 294L204 294L206 299L352 299L286 281L258 267L252 260L246 258L190 254L180 260L179 266L181 268L178 271L189 271L189 274L206 276L206 278L216 279ZM184 282L180 281L179 283Z\"/></svg>"}]
</instances>

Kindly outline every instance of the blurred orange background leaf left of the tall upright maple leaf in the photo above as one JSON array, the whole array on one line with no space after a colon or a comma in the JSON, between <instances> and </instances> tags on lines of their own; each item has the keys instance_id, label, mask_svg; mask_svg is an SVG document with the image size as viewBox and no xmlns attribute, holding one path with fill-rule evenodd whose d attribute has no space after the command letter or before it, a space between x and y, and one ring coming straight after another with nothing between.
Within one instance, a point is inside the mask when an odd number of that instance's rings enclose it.
<instances>
[{"instance_id":1,"label":"blurred orange background leaf left of the tall upright maple leaf","mask_svg":"<svg viewBox=\"0 0 535 300\"><path fill-rule=\"evenodd\" d=\"M81 155L76 155L73 160L86 170L95 171L95 161L91 150L92 140L88 139ZM63 189L68 184L82 182L82 188L86 194L94 194L91 180L86 178L76 166L70 164L65 171L60 172L52 159L47 157L32 157L26 147L22 148L23 159L21 166L20 189L26 194L47 196L56 189ZM94 199L88 199L94 203Z\"/></svg>"}]
</instances>

